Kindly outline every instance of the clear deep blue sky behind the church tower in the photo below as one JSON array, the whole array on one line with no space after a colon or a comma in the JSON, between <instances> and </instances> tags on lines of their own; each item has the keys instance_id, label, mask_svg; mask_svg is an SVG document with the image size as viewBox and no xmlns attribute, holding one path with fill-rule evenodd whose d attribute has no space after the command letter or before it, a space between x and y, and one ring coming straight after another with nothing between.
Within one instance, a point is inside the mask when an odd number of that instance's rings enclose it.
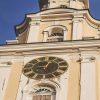
<instances>
[{"instance_id":1,"label":"clear deep blue sky behind the church tower","mask_svg":"<svg viewBox=\"0 0 100 100\"><path fill-rule=\"evenodd\" d=\"M0 0L0 44L14 40L14 26L23 22L25 14L37 11L38 0ZM100 0L90 0L90 13L100 20Z\"/></svg>"}]
</instances>

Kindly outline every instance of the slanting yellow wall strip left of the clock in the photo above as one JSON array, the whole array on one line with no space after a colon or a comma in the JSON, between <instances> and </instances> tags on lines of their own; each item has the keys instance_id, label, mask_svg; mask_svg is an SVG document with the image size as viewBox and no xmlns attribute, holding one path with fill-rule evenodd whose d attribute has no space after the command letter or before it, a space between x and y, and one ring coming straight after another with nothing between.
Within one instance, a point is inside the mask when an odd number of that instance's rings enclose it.
<instances>
[{"instance_id":1,"label":"slanting yellow wall strip left of the clock","mask_svg":"<svg viewBox=\"0 0 100 100\"><path fill-rule=\"evenodd\" d=\"M3 100L16 100L19 88L19 81L22 74L22 68L23 68L23 57L17 56L12 61L11 72L9 75Z\"/></svg>"}]
</instances>

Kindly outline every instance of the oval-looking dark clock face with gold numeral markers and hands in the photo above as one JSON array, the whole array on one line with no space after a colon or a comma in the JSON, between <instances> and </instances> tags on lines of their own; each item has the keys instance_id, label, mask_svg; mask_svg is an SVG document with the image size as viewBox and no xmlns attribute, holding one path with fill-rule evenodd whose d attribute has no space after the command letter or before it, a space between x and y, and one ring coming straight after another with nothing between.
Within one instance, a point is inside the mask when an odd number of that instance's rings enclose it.
<instances>
[{"instance_id":1,"label":"oval-looking dark clock face with gold numeral markers and hands","mask_svg":"<svg viewBox=\"0 0 100 100\"><path fill-rule=\"evenodd\" d=\"M67 62L61 58L40 57L28 62L23 68L23 73L32 79L47 79L60 76L67 68Z\"/></svg>"}]
</instances>

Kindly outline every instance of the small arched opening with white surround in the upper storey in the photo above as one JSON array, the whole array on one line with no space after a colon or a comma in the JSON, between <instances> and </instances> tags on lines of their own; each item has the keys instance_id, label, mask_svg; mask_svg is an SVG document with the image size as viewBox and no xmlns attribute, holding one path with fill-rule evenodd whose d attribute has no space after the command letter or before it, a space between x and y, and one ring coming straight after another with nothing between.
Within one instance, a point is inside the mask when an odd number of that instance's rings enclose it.
<instances>
[{"instance_id":1,"label":"small arched opening with white surround in the upper storey","mask_svg":"<svg viewBox=\"0 0 100 100\"><path fill-rule=\"evenodd\" d=\"M44 31L44 42L61 42L66 40L66 27L64 26L51 26Z\"/></svg>"}]
</instances>

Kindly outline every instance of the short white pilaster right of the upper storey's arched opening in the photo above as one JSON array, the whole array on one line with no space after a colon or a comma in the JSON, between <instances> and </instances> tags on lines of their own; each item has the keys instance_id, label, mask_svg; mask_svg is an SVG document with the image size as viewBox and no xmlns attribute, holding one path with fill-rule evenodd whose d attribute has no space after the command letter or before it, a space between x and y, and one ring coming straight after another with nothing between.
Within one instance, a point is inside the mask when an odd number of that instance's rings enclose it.
<instances>
[{"instance_id":1,"label":"short white pilaster right of the upper storey's arched opening","mask_svg":"<svg viewBox=\"0 0 100 100\"><path fill-rule=\"evenodd\" d=\"M74 18L73 19L73 33L72 40L80 40L83 35L83 21L82 18Z\"/></svg>"}]
</instances>

